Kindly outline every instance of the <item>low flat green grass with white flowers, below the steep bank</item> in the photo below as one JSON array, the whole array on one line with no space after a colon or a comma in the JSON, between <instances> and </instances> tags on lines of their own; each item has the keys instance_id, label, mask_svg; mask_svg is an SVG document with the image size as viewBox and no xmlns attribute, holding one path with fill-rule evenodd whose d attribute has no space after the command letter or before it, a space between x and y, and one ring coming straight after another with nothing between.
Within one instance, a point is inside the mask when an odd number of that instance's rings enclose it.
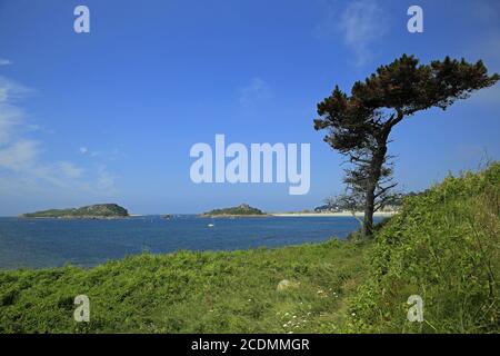
<instances>
[{"instance_id":1,"label":"low flat green grass with white flowers, below the steep bank","mask_svg":"<svg viewBox=\"0 0 500 356\"><path fill-rule=\"evenodd\" d=\"M366 248L317 245L143 254L91 269L0 274L1 333L320 333L343 317ZM282 279L291 287L278 291ZM90 323L73 299L90 298Z\"/></svg>"}]
</instances>

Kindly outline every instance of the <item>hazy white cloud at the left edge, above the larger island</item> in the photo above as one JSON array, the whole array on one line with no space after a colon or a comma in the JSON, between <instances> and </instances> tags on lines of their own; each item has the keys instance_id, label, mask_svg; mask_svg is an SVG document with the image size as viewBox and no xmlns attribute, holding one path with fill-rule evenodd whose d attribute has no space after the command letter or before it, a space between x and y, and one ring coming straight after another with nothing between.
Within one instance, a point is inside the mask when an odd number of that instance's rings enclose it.
<instances>
[{"instance_id":1,"label":"hazy white cloud at the left edge, above the larger island","mask_svg":"<svg viewBox=\"0 0 500 356\"><path fill-rule=\"evenodd\" d=\"M106 167L87 170L68 160L43 159L40 140L26 137L33 126L17 99L29 92L23 86L0 77L0 189L1 197L38 194L49 196L109 196L114 178ZM86 147L80 148L87 154Z\"/></svg>"}]
</instances>

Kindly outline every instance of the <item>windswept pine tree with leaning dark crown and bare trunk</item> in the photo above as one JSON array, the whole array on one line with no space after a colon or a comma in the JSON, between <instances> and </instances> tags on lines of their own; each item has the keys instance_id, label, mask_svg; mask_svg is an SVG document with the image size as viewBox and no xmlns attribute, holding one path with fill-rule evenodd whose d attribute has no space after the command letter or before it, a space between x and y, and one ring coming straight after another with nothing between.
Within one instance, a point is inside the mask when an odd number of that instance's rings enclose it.
<instances>
[{"instance_id":1,"label":"windswept pine tree with leaning dark crown and bare trunk","mask_svg":"<svg viewBox=\"0 0 500 356\"><path fill-rule=\"evenodd\" d=\"M347 95L336 86L318 103L317 130L327 130L324 141L348 157L344 182L350 197L364 206L363 236L372 235L373 212L381 208L396 186L388 142L392 128L404 118L430 108L446 110L474 90L490 87L499 75L488 76L482 63L449 57L419 65L403 55L381 66Z\"/></svg>"}]
</instances>

